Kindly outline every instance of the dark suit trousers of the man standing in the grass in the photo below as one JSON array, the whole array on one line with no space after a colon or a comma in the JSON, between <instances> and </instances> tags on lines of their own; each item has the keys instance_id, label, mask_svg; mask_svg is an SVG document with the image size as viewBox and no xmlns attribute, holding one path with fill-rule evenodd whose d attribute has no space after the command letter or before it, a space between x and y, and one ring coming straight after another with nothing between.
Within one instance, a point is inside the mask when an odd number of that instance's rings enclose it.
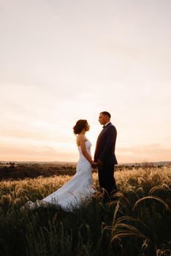
<instances>
[{"instance_id":1,"label":"dark suit trousers of the man standing in the grass","mask_svg":"<svg viewBox=\"0 0 171 256\"><path fill-rule=\"evenodd\" d=\"M115 165L104 163L102 168L98 168L99 187L101 187L101 189L105 189L109 196L111 192L117 192L114 178L114 167Z\"/></svg>"}]
</instances>

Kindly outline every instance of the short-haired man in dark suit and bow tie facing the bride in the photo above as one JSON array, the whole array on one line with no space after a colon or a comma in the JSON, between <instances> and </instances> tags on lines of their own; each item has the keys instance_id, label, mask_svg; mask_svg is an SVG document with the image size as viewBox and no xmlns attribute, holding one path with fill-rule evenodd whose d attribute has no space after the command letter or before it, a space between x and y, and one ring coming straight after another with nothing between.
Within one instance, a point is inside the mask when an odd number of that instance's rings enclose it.
<instances>
[{"instance_id":1,"label":"short-haired man in dark suit and bow tie facing the bride","mask_svg":"<svg viewBox=\"0 0 171 256\"><path fill-rule=\"evenodd\" d=\"M103 125L102 132L96 141L94 162L98 166L99 186L104 189L104 197L110 198L117 191L114 178L114 165L118 162L115 158L115 140L117 131L110 122L110 113L103 111L99 114L99 123ZM92 165L92 167L95 167Z\"/></svg>"}]
</instances>

